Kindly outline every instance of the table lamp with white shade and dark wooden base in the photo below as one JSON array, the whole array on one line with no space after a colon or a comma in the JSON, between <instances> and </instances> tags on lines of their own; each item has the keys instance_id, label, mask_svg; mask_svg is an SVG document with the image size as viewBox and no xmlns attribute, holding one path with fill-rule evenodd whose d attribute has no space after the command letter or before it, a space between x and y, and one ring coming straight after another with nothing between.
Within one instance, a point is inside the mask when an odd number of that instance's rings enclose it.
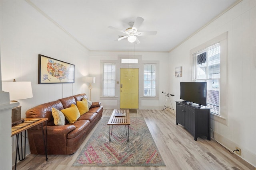
<instances>
[{"instance_id":1,"label":"table lamp with white shade and dark wooden base","mask_svg":"<svg viewBox=\"0 0 256 170\"><path fill-rule=\"evenodd\" d=\"M10 102L33 97L31 82L2 82L2 90L9 92ZM12 126L24 121L21 119L21 106L12 109Z\"/></svg>"}]
</instances>

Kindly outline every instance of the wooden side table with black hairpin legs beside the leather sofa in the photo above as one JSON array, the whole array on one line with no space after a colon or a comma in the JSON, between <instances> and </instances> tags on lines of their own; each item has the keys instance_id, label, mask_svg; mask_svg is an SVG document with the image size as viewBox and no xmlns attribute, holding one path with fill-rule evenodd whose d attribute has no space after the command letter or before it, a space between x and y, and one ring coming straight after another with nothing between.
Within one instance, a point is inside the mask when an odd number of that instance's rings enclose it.
<instances>
[{"instance_id":1,"label":"wooden side table with black hairpin legs beside the leather sofa","mask_svg":"<svg viewBox=\"0 0 256 170\"><path fill-rule=\"evenodd\" d=\"M40 119L40 120L39 120ZM47 158L47 120L48 118L39 118L37 121L31 123L31 124L28 124L24 127L21 127L20 129L17 129L15 131L12 131L12 137L14 135L16 135L16 139L17 139L17 145L16 145L16 158L15 158L15 170L16 170L16 166L17 166L17 156L19 154L19 160L24 160L25 159L25 156L26 156L26 130L30 129L31 127L34 127L36 125L39 125L41 124L41 127L42 127L42 137L43 137L43 141L44 141L44 152L45 152L45 157L46 157L46 161L48 160ZM24 122L26 121L31 121L33 120L33 118L24 118ZM45 125L45 133L46 133L46 139L44 139L44 129L43 129L43 122L46 122L46 125ZM20 125L15 125L14 127L17 127L17 126L20 126ZM14 128L12 127L12 128ZM22 158L20 159L20 150L19 150L19 135L21 137L21 145L22 145L22 132L25 131L25 142L24 142L24 145L25 145L25 149L24 149L24 157L23 157L23 149L22 149L22 146L21 146L21 155L22 155Z\"/></svg>"}]
</instances>

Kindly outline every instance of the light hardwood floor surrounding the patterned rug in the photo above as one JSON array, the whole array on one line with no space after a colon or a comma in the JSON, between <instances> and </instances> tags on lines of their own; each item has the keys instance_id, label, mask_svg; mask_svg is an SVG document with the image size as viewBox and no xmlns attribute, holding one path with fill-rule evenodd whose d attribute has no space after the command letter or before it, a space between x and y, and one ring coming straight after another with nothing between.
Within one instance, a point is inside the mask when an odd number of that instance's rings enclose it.
<instances>
[{"instance_id":1,"label":"light hardwood floor surrounding the patterned rug","mask_svg":"<svg viewBox=\"0 0 256 170\"><path fill-rule=\"evenodd\" d=\"M110 116L113 109L104 109L103 116ZM81 147L72 156L29 154L17 164L17 170L255 170L236 154L220 146L214 139L198 137L197 141L167 109L138 110L130 117L144 117L166 166L72 166L76 157L96 129L90 132ZM13 167L14 169L14 167Z\"/></svg>"}]
</instances>

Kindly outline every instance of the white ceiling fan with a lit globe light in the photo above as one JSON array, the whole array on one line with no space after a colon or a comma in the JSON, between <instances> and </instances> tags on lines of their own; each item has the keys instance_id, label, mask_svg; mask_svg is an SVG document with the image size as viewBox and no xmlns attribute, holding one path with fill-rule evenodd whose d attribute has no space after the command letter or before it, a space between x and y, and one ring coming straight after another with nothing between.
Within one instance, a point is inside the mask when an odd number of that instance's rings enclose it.
<instances>
[{"instance_id":1,"label":"white ceiling fan with a lit globe light","mask_svg":"<svg viewBox=\"0 0 256 170\"><path fill-rule=\"evenodd\" d=\"M120 41L122 39L126 39L130 42L136 42L136 44L140 43L139 39L137 36L144 36L144 35L156 35L156 31L144 31L144 32L139 32L138 28L142 24L144 19L142 17L137 17L135 22L129 22L130 27L127 28L125 31L116 27L108 26L111 29L114 29L116 31L120 31L122 33L125 33L127 35L120 36L120 38L116 39L115 41Z\"/></svg>"}]
</instances>

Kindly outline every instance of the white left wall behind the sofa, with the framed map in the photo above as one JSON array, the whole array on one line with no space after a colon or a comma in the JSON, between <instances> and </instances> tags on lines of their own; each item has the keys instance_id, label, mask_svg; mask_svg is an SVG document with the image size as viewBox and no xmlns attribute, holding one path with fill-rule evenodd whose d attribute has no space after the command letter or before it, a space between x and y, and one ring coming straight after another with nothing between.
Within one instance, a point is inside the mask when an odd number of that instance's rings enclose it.
<instances>
[{"instance_id":1,"label":"white left wall behind the sofa, with the framed map","mask_svg":"<svg viewBox=\"0 0 256 170\"><path fill-rule=\"evenodd\" d=\"M88 84L83 78L89 74L89 52L26 1L0 3L2 81L15 78L32 84L33 98L18 101L22 117L26 116L26 110L39 104L88 94ZM38 54L74 64L75 83L38 84ZM15 153L14 140L12 150Z\"/></svg>"}]
</instances>

